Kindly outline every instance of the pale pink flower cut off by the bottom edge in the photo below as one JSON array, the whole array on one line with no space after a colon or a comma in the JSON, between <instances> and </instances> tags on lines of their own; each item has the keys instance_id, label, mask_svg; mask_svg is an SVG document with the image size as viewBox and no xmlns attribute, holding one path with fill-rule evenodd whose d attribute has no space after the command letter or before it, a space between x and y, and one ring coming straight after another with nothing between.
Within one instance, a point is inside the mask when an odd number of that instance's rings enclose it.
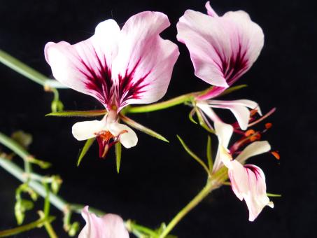
<instances>
[{"instance_id":1,"label":"pale pink flower cut off by the bottom edge","mask_svg":"<svg viewBox=\"0 0 317 238\"><path fill-rule=\"evenodd\" d=\"M88 211L88 206L84 207L81 215L86 225L78 238L129 238L125 223L118 215L106 214L99 218Z\"/></svg>"}]
</instances>

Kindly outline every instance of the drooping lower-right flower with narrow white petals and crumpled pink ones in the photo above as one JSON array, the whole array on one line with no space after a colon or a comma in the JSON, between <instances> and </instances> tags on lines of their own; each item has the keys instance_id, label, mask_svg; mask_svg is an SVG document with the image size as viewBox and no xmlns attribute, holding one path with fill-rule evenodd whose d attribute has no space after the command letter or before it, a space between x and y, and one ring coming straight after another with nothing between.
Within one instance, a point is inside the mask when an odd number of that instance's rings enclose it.
<instances>
[{"instance_id":1,"label":"drooping lower-right flower with narrow white petals and crumpled pink ones","mask_svg":"<svg viewBox=\"0 0 317 238\"><path fill-rule=\"evenodd\" d=\"M241 153L232 159L232 152L227 149L232 136L233 127L225 123L215 123L218 136L218 151L213 165L213 173L220 169L222 162L228 168L232 190L239 200L245 200L249 210L249 221L254 221L265 206L274 207L267 197L265 174L260 167L243 165L244 162L255 155L270 151L267 141L255 141L244 148Z\"/></svg>"}]
</instances>

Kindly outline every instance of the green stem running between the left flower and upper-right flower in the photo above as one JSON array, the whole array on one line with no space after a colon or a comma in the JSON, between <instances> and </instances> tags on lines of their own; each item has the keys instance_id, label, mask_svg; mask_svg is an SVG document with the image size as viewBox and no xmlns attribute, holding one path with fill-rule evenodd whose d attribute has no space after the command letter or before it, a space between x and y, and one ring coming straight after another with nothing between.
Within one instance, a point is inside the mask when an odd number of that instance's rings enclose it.
<instances>
[{"instance_id":1,"label":"green stem running between the left flower and upper-right flower","mask_svg":"<svg viewBox=\"0 0 317 238\"><path fill-rule=\"evenodd\" d=\"M158 111L162 109L168 109L171 106L176 106L178 104L183 104L185 102L190 102L192 99L199 94L199 92L191 92L188 94L183 94L181 96L169 99L164 102L158 102L157 104L150 104L146 106L129 106L125 109L125 113L146 113L150 111Z\"/></svg>"}]
</instances>

